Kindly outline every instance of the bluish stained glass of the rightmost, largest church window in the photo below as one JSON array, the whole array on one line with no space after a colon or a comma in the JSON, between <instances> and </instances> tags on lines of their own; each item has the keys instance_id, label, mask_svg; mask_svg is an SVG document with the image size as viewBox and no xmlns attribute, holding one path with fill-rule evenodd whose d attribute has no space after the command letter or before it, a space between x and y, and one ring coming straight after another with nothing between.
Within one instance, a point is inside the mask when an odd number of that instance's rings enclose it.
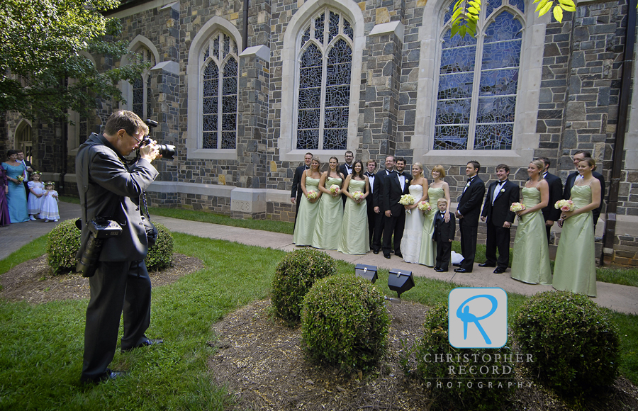
<instances>
[{"instance_id":1,"label":"bluish stained glass of the rightmost, largest church window","mask_svg":"<svg viewBox=\"0 0 638 411\"><path fill-rule=\"evenodd\" d=\"M521 11L524 7L522 0L503 3ZM458 34L450 38L453 4L444 16L435 150L512 148L522 18L505 9L501 0L485 5L476 38Z\"/></svg>"}]
</instances>

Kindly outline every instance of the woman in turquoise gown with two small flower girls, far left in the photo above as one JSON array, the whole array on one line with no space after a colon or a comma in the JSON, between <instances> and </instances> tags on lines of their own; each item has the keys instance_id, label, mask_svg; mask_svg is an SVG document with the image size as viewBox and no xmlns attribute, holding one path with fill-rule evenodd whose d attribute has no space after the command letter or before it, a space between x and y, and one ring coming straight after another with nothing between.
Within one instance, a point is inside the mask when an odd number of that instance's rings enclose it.
<instances>
[{"instance_id":1,"label":"woman in turquoise gown with two small flower girls, far left","mask_svg":"<svg viewBox=\"0 0 638 411\"><path fill-rule=\"evenodd\" d=\"M60 218L58 194L52 181L43 182L40 171L31 168L24 152L9 150L0 167L0 226L11 223L46 222Z\"/></svg>"}]
</instances>

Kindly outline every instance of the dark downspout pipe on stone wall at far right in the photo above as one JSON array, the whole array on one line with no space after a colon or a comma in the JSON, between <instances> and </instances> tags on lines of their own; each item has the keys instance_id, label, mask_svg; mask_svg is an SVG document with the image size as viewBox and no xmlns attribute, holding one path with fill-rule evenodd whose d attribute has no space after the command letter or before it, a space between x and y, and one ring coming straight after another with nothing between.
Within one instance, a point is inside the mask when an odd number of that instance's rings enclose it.
<instances>
[{"instance_id":1,"label":"dark downspout pipe on stone wall at far right","mask_svg":"<svg viewBox=\"0 0 638 411\"><path fill-rule=\"evenodd\" d=\"M614 257L614 239L616 236L616 212L618 208L618 191L622 154L625 152L625 133L627 133L627 107L632 97L632 67L634 60L634 43L636 38L636 4L638 0L629 0L627 6L627 30L625 30L625 56L622 62L620 80L620 101L618 101L618 124L614 140L612 156L611 184L607 203L607 219L605 220L605 238L603 239L603 258L601 265L608 264Z\"/></svg>"}]
</instances>

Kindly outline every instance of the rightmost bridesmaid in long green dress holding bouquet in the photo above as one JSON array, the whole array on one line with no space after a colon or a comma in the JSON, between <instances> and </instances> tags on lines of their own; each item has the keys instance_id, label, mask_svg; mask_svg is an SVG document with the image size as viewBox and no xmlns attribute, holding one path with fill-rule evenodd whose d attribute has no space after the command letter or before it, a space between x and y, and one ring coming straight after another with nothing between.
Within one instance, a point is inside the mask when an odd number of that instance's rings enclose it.
<instances>
[{"instance_id":1,"label":"rightmost bridesmaid in long green dress holding bouquet","mask_svg":"<svg viewBox=\"0 0 638 411\"><path fill-rule=\"evenodd\" d=\"M571 188L573 211L561 213L561 239L554 264L556 290L596 296L594 231L591 210L600 205L600 181L591 175L596 168L593 159L578 162L577 179Z\"/></svg>"}]
</instances>

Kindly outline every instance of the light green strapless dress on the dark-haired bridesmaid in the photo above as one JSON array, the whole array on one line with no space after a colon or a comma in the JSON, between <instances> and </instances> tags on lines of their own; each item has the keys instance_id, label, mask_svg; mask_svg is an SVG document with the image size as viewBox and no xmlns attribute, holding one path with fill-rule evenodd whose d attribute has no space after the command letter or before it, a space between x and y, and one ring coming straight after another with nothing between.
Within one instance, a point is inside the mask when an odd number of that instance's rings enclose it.
<instances>
[{"instance_id":1,"label":"light green strapless dress on the dark-haired bridesmaid","mask_svg":"<svg viewBox=\"0 0 638 411\"><path fill-rule=\"evenodd\" d=\"M364 193L364 180L350 180L349 193ZM367 198L366 198L367 199ZM370 251L370 235L368 230L368 206L366 200L357 204L352 198L346 199L341 227L341 242L338 250L344 254L366 254Z\"/></svg>"}]
</instances>

